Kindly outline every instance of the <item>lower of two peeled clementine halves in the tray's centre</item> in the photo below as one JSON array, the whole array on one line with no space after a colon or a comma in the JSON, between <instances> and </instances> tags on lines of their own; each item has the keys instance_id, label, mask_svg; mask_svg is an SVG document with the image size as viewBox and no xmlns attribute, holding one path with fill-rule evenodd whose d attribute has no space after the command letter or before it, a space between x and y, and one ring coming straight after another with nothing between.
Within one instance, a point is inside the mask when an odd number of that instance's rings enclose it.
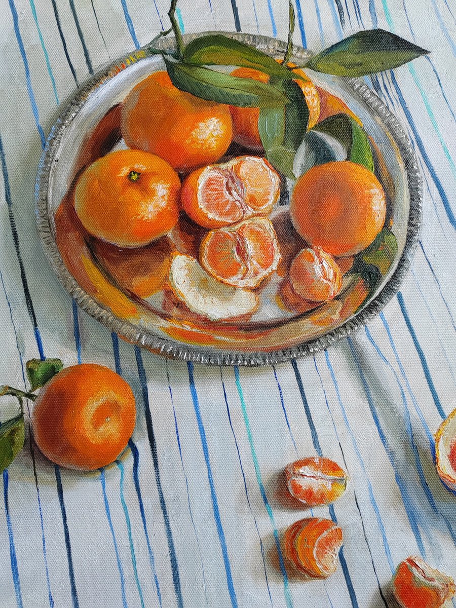
<instances>
[{"instance_id":1,"label":"lower of two peeled clementine halves in the tray's centre","mask_svg":"<svg viewBox=\"0 0 456 608\"><path fill-rule=\"evenodd\" d=\"M211 230L201 243L200 261L209 274L227 285L257 287L280 262L271 221L250 218Z\"/></svg>"}]
</instances>

